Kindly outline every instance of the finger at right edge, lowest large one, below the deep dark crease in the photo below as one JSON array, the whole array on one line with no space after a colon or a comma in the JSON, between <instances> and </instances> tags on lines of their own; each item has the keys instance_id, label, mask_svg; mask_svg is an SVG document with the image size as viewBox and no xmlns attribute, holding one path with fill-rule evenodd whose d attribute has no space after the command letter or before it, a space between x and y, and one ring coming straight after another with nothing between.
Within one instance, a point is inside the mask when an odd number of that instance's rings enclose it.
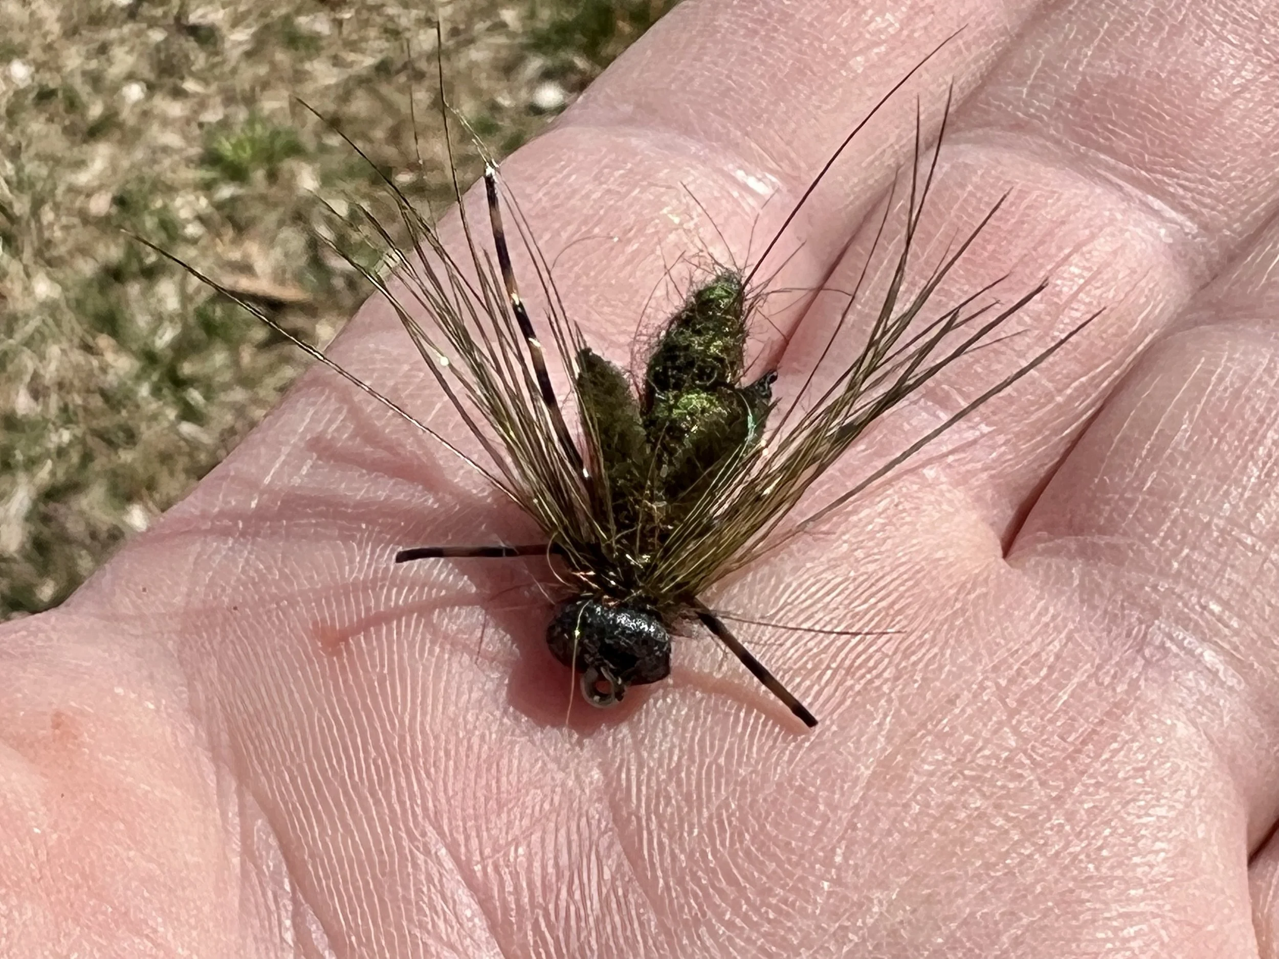
<instances>
[{"instance_id":1,"label":"finger at right edge, lowest large one, below the deep dark crease","mask_svg":"<svg viewBox=\"0 0 1279 959\"><path fill-rule=\"evenodd\" d=\"M1218 826L1205 825L1218 835L1223 895L1266 840L1251 868L1262 955L1276 941L1267 840L1279 809L1276 256L1271 228L1151 348L1009 554L1044 589L1072 583L1081 621L1115 624L1105 644L1087 630L1077 641L1140 676L1149 721L1163 730L1151 761L1181 757L1165 789L1181 781L1219 797Z\"/></svg>"}]
</instances>

